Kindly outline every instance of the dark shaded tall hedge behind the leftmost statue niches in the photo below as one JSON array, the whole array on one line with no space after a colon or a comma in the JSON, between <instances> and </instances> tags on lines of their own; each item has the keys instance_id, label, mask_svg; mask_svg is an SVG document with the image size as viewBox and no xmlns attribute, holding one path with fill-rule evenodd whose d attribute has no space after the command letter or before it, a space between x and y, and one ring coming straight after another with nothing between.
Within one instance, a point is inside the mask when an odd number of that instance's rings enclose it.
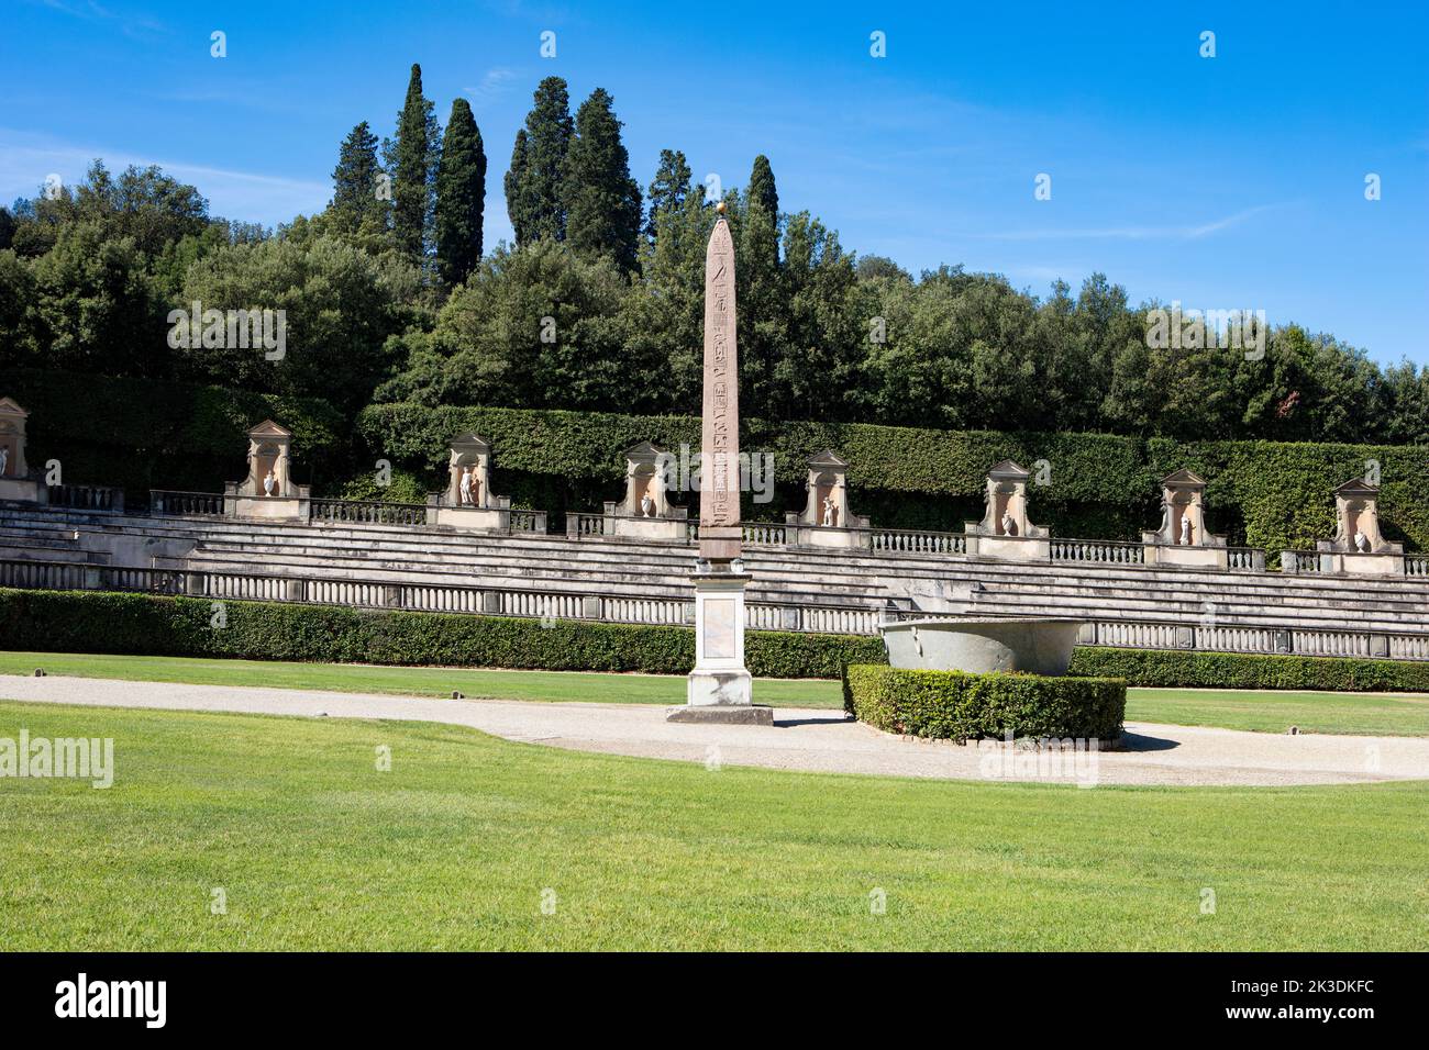
<instances>
[{"instance_id":1,"label":"dark shaded tall hedge behind the leftmost statue niches","mask_svg":"<svg viewBox=\"0 0 1429 1050\"><path fill-rule=\"evenodd\" d=\"M327 401L246 390L103 379L13 369L0 396L30 413L26 460L60 460L64 480L150 489L221 491L243 477L246 433L264 419L293 431L294 474L317 480L346 471L352 431Z\"/></svg>"}]
</instances>

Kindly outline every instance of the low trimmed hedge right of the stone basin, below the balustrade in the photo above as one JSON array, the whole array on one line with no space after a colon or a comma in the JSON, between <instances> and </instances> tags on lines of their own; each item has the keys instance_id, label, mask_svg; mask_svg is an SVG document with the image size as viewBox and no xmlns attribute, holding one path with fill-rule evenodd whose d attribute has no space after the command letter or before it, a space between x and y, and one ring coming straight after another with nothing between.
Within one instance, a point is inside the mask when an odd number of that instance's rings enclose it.
<instances>
[{"instance_id":1,"label":"low trimmed hedge right of the stone basin, below the balustrade","mask_svg":"<svg viewBox=\"0 0 1429 1050\"><path fill-rule=\"evenodd\" d=\"M1256 656L1159 649L1077 647L1069 674L1129 686L1429 691L1429 663L1343 656Z\"/></svg>"}]
</instances>

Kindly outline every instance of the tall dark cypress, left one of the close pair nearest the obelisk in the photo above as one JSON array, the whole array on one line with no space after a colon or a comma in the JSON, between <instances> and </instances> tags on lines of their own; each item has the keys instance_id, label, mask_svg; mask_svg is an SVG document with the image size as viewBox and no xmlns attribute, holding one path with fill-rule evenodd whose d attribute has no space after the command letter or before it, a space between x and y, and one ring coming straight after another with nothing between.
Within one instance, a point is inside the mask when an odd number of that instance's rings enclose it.
<instances>
[{"instance_id":1,"label":"tall dark cypress, left one of the close pair nearest the obelisk","mask_svg":"<svg viewBox=\"0 0 1429 1050\"><path fill-rule=\"evenodd\" d=\"M536 87L526 127L516 133L512 170L506 177L506 210L517 246L540 237L566 239L562 179L573 133L566 81L546 77Z\"/></svg>"}]
</instances>

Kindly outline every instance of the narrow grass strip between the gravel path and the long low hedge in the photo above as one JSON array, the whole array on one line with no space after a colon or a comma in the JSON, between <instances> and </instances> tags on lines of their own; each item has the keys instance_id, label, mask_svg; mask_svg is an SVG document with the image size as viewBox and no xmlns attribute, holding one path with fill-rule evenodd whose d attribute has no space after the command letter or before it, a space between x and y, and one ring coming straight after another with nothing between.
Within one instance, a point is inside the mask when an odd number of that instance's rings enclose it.
<instances>
[{"instance_id":1,"label":"narrow grass strip between the gravel path and the long low hedge","mask_svg":"<svg viewBox=\"0 0 1429 1050\"><path fill-rule=\"evenodd\" d=\"M163 656L0 653L0 674L50 674L199 686L273 686L343 693L450 696L503 700L600 703L684 703L684 679L662 674L502 671L460 667L376 667L367 664L199 660ZM836 681L760 679L760 703L783 707L842 707ZM1130 689L1126 717L1179 726L1222 726L1283 733L1429 736L1429 696L1386 693L1293 693L1276 690Z\"/></svg>"}]
</instances>

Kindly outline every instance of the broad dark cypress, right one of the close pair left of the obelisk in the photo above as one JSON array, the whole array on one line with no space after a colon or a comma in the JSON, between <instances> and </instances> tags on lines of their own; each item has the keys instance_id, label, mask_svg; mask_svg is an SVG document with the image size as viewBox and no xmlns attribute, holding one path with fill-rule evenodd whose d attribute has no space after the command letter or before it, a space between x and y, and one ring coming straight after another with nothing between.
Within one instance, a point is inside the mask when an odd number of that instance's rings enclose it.
<instances>
[{"instance_id":1,"label":"broad dark cypress, right one of the close pair left of the obelisk","mask_svg":"<svg viewBox=\"0 0 1429 1050\"><path fill-rule=\"evenodd\" d=\"M607 256L633 270L640 239L640 187L630 177L630 156L620 141L620 121L610 94L597 87L576 113L576 140L566 157L566 240L572 247Z\"/></svg>"}]
</instances>

